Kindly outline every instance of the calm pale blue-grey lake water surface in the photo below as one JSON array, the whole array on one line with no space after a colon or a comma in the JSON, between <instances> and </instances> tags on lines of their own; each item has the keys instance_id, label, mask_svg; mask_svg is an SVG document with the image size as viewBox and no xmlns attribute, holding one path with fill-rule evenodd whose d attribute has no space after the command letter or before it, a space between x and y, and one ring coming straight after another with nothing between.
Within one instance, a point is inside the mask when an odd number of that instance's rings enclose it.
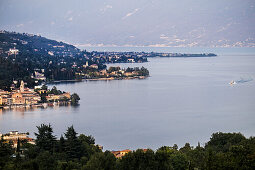
<instances>
[{"instance_id":1,"label":"calm pale blue-grey lake water surface","mask_svg":"<svg viewBox=\"0 0 255 170\"><path fill-rule=\"evenodd\" d=\"M203 144L218 131L254 136L255 50L201 51L219 56L114 64L148 68L151 77L145 80L57 84L60 90L78 93L80 106L0 112L0 132L33 134L37 125L51 123L59 137L74 125L78 133L93 135L109 150ZM231 80L247 81L230 86Z\"/></svg>"}]
</instances>

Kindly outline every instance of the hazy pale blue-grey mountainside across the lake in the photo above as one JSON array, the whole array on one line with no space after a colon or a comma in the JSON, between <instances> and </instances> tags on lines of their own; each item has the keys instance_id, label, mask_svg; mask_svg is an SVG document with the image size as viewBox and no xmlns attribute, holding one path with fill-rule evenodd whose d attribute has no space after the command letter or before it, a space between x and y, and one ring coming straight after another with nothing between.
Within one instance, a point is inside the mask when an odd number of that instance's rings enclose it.
<instances>
[{"instance_id":1,"label":"hazy pale blue-grey mountainside across the lake","mask_svg":"<svg viewBox=\"0 0 255 170\"><path fill-rule=\"evenodd\" d=\"M80 46L255 47L255 0L0 0L0 29Z\"/></svg>"}]
</instances>

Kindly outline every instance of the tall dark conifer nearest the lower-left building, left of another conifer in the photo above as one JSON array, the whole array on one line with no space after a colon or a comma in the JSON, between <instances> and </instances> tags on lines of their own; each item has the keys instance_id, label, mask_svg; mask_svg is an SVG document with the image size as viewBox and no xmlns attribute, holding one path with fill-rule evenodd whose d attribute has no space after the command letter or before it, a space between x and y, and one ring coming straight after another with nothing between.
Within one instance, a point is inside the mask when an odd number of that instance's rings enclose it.
<instances>
[{"instance_id":1,"label":"tall dark conifer nearest the lower-left building, left of another conifer","mask_svg":"<svg viewBox=\"0 0 255 170\"><path fill-rule=\"evenodd\" d=\"M53 135L53 130L51 125L41 124L37 126L38 133L35 133L36 136L36 146L40 150L50 151L53 153L56 145L56 137Z\"/></svg>"}]
</instances>

